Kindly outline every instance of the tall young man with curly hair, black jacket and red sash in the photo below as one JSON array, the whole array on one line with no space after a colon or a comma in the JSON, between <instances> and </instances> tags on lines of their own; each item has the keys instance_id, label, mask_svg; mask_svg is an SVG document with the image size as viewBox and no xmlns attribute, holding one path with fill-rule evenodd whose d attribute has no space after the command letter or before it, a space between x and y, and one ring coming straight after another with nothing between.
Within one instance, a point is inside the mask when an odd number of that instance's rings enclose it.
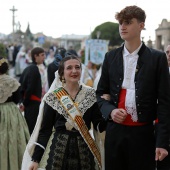
<instances>
[{"instance_id":1,"label":"tall young man with curly hair, black jacket and red sash","mask_svg":"<svg viewBox=\"0 0 170 170\"><path fill-rule=\"evenodd\" d=\"M124 44L106 53L97 88L98 104L108 121L105 170L155 170L156 161L168 154L170 81L166 55L141 41L144 10L127 6L115 18ZM102 98L103 94L110 94L110 101Z\"/></svg>"}]
</instances>

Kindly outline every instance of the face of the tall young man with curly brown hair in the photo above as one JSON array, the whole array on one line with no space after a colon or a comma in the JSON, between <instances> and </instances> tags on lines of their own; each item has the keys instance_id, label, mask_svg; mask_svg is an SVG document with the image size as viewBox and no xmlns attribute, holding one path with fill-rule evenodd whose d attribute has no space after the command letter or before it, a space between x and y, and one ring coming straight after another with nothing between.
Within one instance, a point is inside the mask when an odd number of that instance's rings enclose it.
<instances>
[{"instance_id":1,"label":"face of the tall young man with curly brown hair","mask_svg":"<svg viewBox=\"0 0 170 170\"><path fill-rule=\"evenodd\" d=\"M140 38L141 30L144 28L144 22L137 21L136 18L128 21L119 22L119 33L123 40L132 41Z\"/></svg>"}]
</instances>

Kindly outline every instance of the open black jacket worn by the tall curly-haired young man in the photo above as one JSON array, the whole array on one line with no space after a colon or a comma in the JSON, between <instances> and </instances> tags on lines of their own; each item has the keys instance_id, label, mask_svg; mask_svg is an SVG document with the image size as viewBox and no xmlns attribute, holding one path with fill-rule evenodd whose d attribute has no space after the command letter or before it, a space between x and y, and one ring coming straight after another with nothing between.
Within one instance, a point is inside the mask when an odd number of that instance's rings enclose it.
<instances>
[{"instance_id":1,"label":"open black jacket worn by the tall curly-haired young man","mask_svg":"<svg viewBox=\"0 0 170 170\"><path fill-rule=\"evenodd\" d=\"M118 106L124 78L122 50L123 46L106 53L98 83L97 101L106 120ZM146 47L145 44L138 55L134 80L138 121L150 123L158 117L157 146L166 148L170 123L170 80L166 55ZM100 97L105 93L111 95L110 102Z\"/></svg>"}]
</instances>

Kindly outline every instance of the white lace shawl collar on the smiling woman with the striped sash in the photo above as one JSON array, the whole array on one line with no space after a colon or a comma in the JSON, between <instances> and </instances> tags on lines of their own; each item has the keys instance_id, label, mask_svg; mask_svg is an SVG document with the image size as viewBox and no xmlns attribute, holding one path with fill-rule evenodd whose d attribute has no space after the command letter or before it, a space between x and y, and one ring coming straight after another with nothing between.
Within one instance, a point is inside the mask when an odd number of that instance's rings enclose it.
<instances>
[{"instance_id":1,"label":"white lace shawl collar on the smiling woman with the striped sash","mask_svg":"<svg viewBox=\"0 0 170 170\"><path fill-rule=\"evenodd\" d=\"M44 101L54 110L56 110L59 114L62 114L65 117L68 122L66 123L66 127L70 129L72 126L77 129L76 125L74 124L74 121L70 119L69 115L67 114L63 106L60 104L53 92L47 93L44 98ZM75 103L78 103L78 109L80 110L81 115L83 116L87 109L89 109L95 102L95 90L91 87L82 85L82 89L80 90L75 100ZM69 126L69 124L71 126Z\"/></svg>"}]
</instances>

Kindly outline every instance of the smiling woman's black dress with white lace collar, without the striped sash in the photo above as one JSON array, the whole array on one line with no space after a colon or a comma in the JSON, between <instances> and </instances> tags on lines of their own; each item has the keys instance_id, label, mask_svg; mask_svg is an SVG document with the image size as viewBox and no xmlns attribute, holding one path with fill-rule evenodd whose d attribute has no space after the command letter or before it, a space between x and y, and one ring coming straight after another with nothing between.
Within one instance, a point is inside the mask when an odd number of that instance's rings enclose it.
<instances>
[{"instance_id":1,"label":"smiling woman's black dress with white lace collar, without the striped sash","mask_svg":"<svg viewBox=\"0 0 170 170\"><path fill-rule=\"evenodd\" d=\"M46 170L95 170L94 156L88 148L81 134L74 127L66 126L66 118L61 114L64 112L62 106L49 94L44 105L43 121L39 131L38 141L46 147L55 129L52 144L50 146ZM83 100L81 98L83 97ZM86 126L90 130L91 123L94 128L102 132L105 130L106 122L95 102L95 92L83 87L76 97L79 109L83 114ZM48 104L47 104L48 103ZM32 159L40 162L44 150L38 145L35 147Z\"/></svg>"}]
</instances>

